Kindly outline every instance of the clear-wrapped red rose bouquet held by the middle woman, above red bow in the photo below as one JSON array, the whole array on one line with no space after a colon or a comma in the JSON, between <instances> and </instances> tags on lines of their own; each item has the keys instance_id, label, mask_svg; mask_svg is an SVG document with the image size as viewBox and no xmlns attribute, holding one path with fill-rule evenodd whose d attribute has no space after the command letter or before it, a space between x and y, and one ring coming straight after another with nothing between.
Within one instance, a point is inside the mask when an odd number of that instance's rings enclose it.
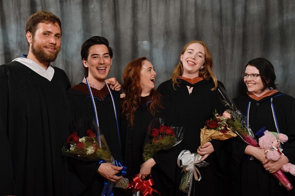
<instances>
[{"instance_id":1,"label":"clear-wrapped red rose bouquet held by the middle woman, above red bow","mask_svg":"<svg viewBox=\"0 0 295 196\"><path fill-rule=\"evenodd\" d=\"M153 119L148 125L147 136L143 148L143 158L147 161L160 150L170 149L183 139L183 127L164 125L162 119Z\"/></svg>"}]
</instances>

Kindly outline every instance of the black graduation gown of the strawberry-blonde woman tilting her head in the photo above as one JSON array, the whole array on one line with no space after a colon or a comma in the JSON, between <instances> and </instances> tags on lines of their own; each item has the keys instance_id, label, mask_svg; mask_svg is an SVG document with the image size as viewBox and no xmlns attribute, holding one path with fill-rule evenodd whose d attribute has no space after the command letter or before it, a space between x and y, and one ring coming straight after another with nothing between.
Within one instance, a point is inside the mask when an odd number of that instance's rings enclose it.
<instances>
[{"instance_id":1,"label":"black graduation gown of the strawberry-blonde woman tilting her head","mask_svg":"<svg viewBox=\"0 0 295 196\"><path fill-rule=\"evenodd\" d=\"M172 80L163 82L157 89L164 96L165 113L168 115L167 121L175 126L185 127L183 141L178 145L177 154L171 162L177 161L177 156L183 149L190 150L191 153L197 152L200 146L201 128L204 127L205 121L212 117L214 109L219 113L224 111L223 104L220 102L216 91L210 90L214 87L211 79L201 80L195 84L190 84L182 79L180 81L179 87L176 86L177 90L173 89ZM219 81L218 84L224 87ZM189 94L186 85L194 87L191 94ZM199 168L202 179L198 182L193 180L191 195L224 195L225 142L218 140L210 142L215 151L206 159L209 165L205 168ZM178 190L180 179L181 169L177 167L176 196L186 195Z\"/></svg>"}]
</instances>

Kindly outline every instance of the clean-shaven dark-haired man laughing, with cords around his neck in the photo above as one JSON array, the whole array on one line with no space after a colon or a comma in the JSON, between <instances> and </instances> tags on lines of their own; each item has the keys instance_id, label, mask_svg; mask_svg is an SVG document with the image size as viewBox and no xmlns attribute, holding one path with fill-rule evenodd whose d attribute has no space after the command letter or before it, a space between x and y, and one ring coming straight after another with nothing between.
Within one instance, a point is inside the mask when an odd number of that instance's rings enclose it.
<instances>
[{"instance_id":1,"label":"clean-shaven dark-haired man laughing, with cords around his neck","mask_svg":"<svg viewBox=\"0 0 295 196\"><path fill-rule=\"evenodd\" d=\"M70 122L79 136L85 136L93 128L93 119L104 135L112 156L121 162L121 141L119 131L120 95L105 83L112 66L113 51L106 38L90 37L81 47L81 59L85 78L80 84L67 90L70 105ZM81 125L81 122L86 122ZM73 196L101 195L104 182L117 182L122 168L98 161L70 160L71 194ZM106 188L106 187L105 187ZM116 196L123 195L123 189L113 188Z\"/></svg>"}]
</instances>

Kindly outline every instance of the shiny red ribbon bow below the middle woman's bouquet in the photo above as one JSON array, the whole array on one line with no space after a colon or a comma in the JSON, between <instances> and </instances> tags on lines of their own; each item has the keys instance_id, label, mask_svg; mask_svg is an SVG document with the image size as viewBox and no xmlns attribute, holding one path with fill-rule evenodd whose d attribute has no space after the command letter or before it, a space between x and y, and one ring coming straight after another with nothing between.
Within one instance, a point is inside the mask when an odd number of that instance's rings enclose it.
<instances>
[{"instance_id":1,"label":"shiny red ribbon bow below the middle woman's bouquet","mask_svg":"<svg viewBox=\"0 0 295 196\"><path fill-rule=\"evenodd\" d=\"M153 179L148 179L148 180L142 180L141 178L138 177L139 174L136 174L133 177L133 181L129 182L128 188L127 189L134 189L133 191L140 191L140 193L143 196L152 196L152 193L155 192L157 193L159 196L161 196L161 194L151 188L150 186L154 185ZM151 175L150 175L151 177Z\"/></svg>"}]
</instances>

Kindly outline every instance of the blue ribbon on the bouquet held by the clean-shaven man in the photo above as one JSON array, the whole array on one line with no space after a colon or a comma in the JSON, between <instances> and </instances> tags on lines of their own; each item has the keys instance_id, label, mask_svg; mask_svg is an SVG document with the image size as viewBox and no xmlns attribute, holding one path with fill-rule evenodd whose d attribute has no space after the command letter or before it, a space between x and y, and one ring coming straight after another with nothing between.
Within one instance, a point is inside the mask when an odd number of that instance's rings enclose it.
<instances>
[{"instance_id":1,"label":"blue ribbon on the bouquet held by the clean-shaven man","mask_svg":"<svg viewBox=\"0 0 295 196\"><path fill-rule=\"evenodd\" d=\"M102 159L98 163L102 164L102 163L107 163L107 162L104 159ZM125 166L123 166L123 164L121 162L118 162L117 160L115 160L114 165L118 166L118 167L122 167L122 170L120 170L116 174L117 176L122 176L122 175L125 175L127 173L126 172L127 168ZM105 182L104 182L104 187L103 187L101 196L114 196L113 187L114 187L114 182L106 179Z\"/></svg>"}]
</instances>

